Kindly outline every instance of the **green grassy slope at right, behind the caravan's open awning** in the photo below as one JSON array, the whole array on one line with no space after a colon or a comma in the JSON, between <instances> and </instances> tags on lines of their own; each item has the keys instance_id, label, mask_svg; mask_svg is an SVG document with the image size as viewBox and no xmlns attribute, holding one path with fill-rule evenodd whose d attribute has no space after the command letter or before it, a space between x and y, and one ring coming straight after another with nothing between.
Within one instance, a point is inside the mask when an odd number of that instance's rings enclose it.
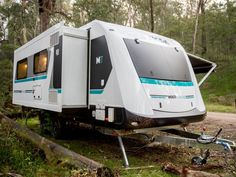
<instances>
[{"instance_id":1,"label":"green grassy slope at right, behind the caravan's open awning","mask_svg":"<svg viewBox=\"0 0 236 177\"><path fill-rule=\"evenodd\" d=\"M221 63L200 89L209 111L235 113L236 58Z\"/></svg>"}]
</instances>

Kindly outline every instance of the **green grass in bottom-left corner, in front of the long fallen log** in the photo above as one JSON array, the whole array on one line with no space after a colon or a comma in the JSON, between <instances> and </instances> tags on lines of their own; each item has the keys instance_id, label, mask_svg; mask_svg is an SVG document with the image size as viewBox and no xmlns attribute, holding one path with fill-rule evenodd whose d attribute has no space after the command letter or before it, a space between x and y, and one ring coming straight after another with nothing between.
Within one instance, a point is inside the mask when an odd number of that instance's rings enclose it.
<instances>
[{"instance_id":1,"label":"green grass in bottom-left corner, in front of the long fallen log","mask_svg":"<svg viewBox=\"0 0 236 177\"><path fill-rule=\"evenodd\" d=\"M36 121L31 122L34 125ZM71 177L75 172L72 167L47 162L40 149L0 124L0 173L4 176L15 173L24 177Z\"/></svg>"}]
</instances>

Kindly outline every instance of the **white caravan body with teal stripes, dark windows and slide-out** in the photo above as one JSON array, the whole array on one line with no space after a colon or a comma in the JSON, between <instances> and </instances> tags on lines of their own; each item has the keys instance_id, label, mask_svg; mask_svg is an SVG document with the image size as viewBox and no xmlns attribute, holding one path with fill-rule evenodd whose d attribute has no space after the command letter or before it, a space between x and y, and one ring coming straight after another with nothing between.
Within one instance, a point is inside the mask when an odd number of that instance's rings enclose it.
<instances>
[{"instance_id":1,"label":"white caravan body with teal stripes, dark windows and slide-out","mask_svg":"<svg viewBox=\"0 0 236 177\"><path fill-rule=\"evenodd\" d=\"M214 64L198 59L143 30L60 23L15 51L13 103L114 128L201 121L206 108L195 73Z\"/></svg>"}]
</instances>

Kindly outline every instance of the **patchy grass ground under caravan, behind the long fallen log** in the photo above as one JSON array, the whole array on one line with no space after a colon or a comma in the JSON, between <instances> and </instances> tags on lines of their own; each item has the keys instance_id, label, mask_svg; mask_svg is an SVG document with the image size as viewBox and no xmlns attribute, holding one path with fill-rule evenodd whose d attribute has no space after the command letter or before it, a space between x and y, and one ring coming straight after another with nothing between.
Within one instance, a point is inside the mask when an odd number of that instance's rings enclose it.
<instances>
[{"instance_id":1,"label":"patchy grass ground under caravan, behind the long fallen log","mask_svg":"<svg viewBox=\"0 0 236 177\"><path fill-rule=\"evenodd\" d=\"M21 124L25 122L19 120ZM29 119L28 126L39 132L38 119ZM199 150L188 149L179 146L157 146L155 148L141 148L143 144L140 142L123 139L131 168L148 167L141 169L126 170L123 167L123 159L116 137L102 135L89 129L79 129L69 135L70 139L55 140L54 142L63 145L81 155L91 158L97 162L103 163L111 168L117 176L122 177L174 177L174 174L162 171L162 166L168 162L178 167L190 166L191 158L199 155ZM50 138L50 137L48 137ZM221 163L222 159L210 158L209 164ZM219 169L220 173L226 173ZM210 170L217 172L217 170Z\"/></svg>"}]
</instances>

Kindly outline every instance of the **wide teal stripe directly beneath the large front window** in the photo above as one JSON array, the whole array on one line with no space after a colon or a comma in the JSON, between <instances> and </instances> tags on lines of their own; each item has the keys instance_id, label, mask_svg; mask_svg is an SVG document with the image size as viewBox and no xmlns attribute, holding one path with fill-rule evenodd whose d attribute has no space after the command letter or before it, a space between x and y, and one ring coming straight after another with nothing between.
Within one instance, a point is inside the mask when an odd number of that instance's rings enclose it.
<instances>
[{"instance_id":1,"label":"wide teal stripe directly beneath the large front window","mask_svg":"<svg viewBox=\"0 0 236 177\"><path fill-rule=\"evenodd\" d=\"M151 79L140 77L141 83L143 84L154 84L154 85L167 85L167 86L193 86L193 82L183 82L183 81L167 81L167 80L159 80L159 79Z\"/></svg>"}]
</instances>

